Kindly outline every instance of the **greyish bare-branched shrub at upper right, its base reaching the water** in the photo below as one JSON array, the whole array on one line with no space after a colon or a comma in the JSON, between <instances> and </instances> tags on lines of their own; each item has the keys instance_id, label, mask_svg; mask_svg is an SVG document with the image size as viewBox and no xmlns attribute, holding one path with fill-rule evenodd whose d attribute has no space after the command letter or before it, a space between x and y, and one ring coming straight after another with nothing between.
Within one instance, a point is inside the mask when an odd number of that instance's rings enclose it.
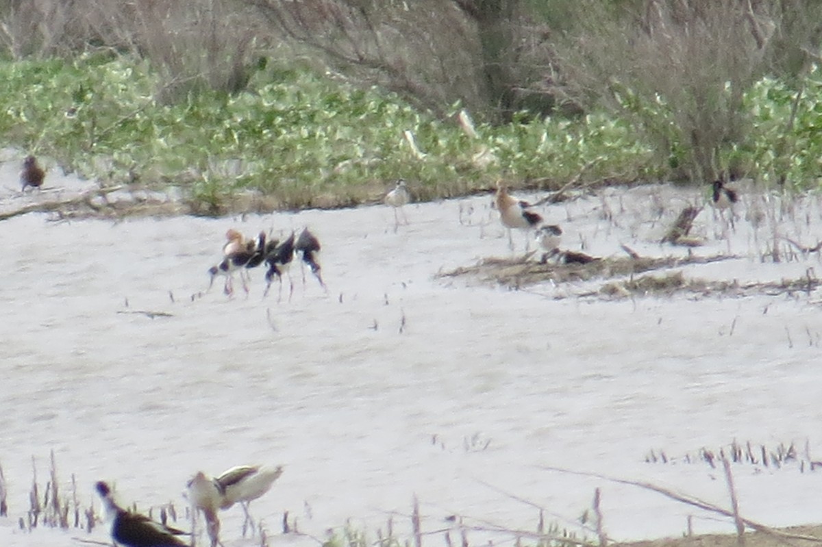
<instances>
[{"instance_id":1,"label":"greyish bare-branched shrub at upper right, its base reaching the water","mask_svg":"<svg viewBox=\"0 0 822 547\"><path fill-rule=\"evenodd\" d=\"M791 7L750 0L647 0L621 2L619 10L580 2L579 9L575 31L557 46L566 91L630 113L674 175L695 181L739 167L721 165L718 152L745 134L742 94L776 63L801 70L804 61L797 68L785 52L804 58L820 28L801 25Z\"/></svg>"}]
</instances>

